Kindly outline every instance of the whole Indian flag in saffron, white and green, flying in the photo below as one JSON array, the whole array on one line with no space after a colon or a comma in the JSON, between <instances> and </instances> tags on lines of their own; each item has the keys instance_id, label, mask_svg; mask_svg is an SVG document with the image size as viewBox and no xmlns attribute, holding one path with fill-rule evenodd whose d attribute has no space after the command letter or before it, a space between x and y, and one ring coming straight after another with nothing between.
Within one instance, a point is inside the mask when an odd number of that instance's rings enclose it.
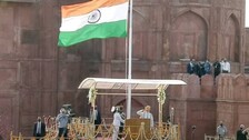
<instances>
[{"instance_id":1,"label":"whole Indian flag in saffron, white and green, flying","mask_svg":"<svg viewBox=\"0 0 249 140\"><path fill-rule=\"evenodd\" d=\"M93 38L127 37L128 0L92 0L62 6L61 13L60 47Z\"/></svg>"}]
</instances>

